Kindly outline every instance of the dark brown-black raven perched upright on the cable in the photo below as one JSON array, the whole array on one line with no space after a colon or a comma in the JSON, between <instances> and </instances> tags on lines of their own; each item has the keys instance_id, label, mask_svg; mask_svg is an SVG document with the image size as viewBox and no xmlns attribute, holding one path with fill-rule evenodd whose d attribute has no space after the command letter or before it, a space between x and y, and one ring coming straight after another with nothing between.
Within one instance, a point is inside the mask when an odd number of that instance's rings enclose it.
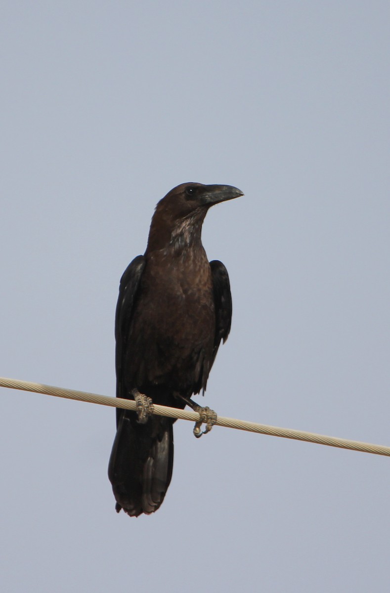
<instances>
[{"instance_id":1,"label":"dark brown-black raven perched upright on the cable","mask_svg":"<svg viewBox=\"0 0 390 593\"><path fill-rule=\"evenodd\" d=\"M242 196L236 187L183 183L156 206L143 256L125 270L116 307L117 397L140 392L164 406L186 406L206 389L220 341L231 326L229 276L208 262L202 223L210 206ZM144 419L145 420L145 419ZM116 511L156 511L171 482L174 419L140 423L117 408L108 465Z\"/></svg>"}]
</instances>

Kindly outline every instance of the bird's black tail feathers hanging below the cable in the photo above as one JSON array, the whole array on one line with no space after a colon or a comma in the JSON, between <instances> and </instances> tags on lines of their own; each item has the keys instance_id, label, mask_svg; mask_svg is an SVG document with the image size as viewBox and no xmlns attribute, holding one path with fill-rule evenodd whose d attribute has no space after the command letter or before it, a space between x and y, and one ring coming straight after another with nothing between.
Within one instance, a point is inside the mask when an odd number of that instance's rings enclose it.
<instances>
[{"instance_id":1,"label":"bird's black tail feathers hanging below the cable","mask_svg":"<svg viewBox=\"0 0 390 593\"><path fill-rule=\"evenodd\" d=\"M172 477L172 424L161 416L139 424L135 413L123 410L108 464L117 512L138 517L161 505Z\"/></svg>"}]
</instances>

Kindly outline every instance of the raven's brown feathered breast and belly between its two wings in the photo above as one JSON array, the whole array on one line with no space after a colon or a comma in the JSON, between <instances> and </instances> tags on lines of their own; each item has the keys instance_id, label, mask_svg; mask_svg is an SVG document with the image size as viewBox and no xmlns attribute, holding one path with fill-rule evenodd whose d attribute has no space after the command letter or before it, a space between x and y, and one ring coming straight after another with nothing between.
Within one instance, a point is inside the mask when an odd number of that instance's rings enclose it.
<instances>
[{"instance_id":1,"label":"raven's brown feathered breast and belly between its two wings","mask_svg":"<svg viewBox=\"0 0 390 593\"><path fill-rule=\"evenodd\" d=\"M202 249L203 251L203 249ZM206 254L149 257L133 318L133 356L153 382L196 385L212 360L215 309Z\"/></svg>"}]
</instances>

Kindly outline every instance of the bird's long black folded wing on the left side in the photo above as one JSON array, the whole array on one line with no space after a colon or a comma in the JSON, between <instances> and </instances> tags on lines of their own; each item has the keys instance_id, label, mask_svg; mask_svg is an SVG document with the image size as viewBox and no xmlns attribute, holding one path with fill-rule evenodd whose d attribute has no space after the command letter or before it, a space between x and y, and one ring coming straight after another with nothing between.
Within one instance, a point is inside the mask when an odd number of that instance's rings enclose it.
<instances>
[{"instance_id":1,"label":"bird's long black folded wing on the left side","mask_svg":"<svg viewBox=\"0 0 390 593\"><path fill-rule=\"evenodd\" d=\"M132 321L135 299L139 282L145 268L145 257L138 256L133 259L123 272L119 284L119 297L115 312L115 368L117 377L117 397L126 397L122 390L123 356L129 340L129 329Z\"/></svg>"}]
</instances>

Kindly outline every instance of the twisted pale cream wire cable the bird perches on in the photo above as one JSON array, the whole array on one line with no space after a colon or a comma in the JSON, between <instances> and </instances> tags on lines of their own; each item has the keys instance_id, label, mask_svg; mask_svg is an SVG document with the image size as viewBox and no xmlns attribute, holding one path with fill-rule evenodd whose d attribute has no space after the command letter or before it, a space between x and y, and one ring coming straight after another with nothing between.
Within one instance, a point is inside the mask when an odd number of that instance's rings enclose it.
<instances>
[{"instance_id":1,"label":"twisted pale cream wire cable the bird perches on","mask_svg":"<svg viewBox=\"0 0 390 593\"><path fill-rule=\"evenodd\" d=\"M23 391L32 391L34 393L43 393L47 396L65 397L70 400L87 401L88 403L100 404L103 406L120 407L127 410L136 410L136 403L133 400L124 400L119 397L101 396L96 393L87 393L85 391L75 391L63 387L53 387L52 385L43 385L29 381L20 381L17 379L8 379L0 377L0 387L10 389L19 389ZM154 413L158 416L169 416L180 418L181 420L191 420L199 422L200 415L197 412L189 412L168 406L158 406L154 404ZM353 451L362 451L373 453L375 455L386 455L390 457L390 447L384 445L373 445L361 441L350 441L349 439L337 438L335 436L318 435L314 432L296 431L290 428L279 428L278 426L269 426L257 422L247 422L246 420L236 420L218 416L217 426L226 428L236 428L241 431L257 432L263 435L281 436L286 439L296 441L306 441L317 443L318 445L328 445L328 447L338 447L341 449L351 449Z\"/></svg>"}]
</instances>

